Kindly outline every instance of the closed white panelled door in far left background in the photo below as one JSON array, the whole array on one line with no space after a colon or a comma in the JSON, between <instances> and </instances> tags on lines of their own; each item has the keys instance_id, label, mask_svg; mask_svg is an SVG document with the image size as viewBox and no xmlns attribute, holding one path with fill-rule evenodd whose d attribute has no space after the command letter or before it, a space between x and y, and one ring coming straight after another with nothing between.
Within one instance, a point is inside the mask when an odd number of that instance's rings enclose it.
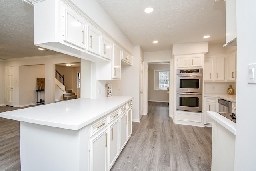
<instances>
[{"instance_id":1,"label":"closed white panelled door in far left background","mask_svg":"<svg viewBox=\"0 0 256 171\"><path fill-rule=\"evenodd\" d=\"M6 67L6 105L13 106L14 102L14 67Z\"/></svg>"}]
</instances>

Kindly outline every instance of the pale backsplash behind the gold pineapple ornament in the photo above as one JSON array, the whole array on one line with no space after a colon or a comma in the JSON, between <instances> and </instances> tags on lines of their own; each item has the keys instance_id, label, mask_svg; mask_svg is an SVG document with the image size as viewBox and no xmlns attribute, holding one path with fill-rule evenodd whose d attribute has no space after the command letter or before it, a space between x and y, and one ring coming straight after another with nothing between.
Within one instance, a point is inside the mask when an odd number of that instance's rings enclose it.
<instances>
[{"instance_id":1,"label":"pale backsplash behind the gold pineapple ornament","mask_svg":"<svg viewBox=\"0 0 256 171\"><path fill-rule=\"evenodd\" d=\"M236 94L236 82L204 82L204 93L228 94L228 86L232 85Z\"/></svg>"}]
</instances>

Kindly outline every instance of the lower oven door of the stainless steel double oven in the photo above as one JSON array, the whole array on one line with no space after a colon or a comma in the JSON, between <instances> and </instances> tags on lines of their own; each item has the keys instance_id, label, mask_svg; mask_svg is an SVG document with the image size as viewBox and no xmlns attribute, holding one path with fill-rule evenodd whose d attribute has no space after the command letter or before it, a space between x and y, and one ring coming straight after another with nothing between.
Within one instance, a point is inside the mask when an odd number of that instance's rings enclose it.
<instances>
[{"instance_id":1,"label":"lower oven door of the stainless steel double oven","mask_svg":"<svg viewBox=\"0 0 256 171\"><path fill-rule=\"evenodd\" d=\"M202 112L202 105L202 93L177 92L176 94L176 110Z\"/></svg>"}]
</instances>

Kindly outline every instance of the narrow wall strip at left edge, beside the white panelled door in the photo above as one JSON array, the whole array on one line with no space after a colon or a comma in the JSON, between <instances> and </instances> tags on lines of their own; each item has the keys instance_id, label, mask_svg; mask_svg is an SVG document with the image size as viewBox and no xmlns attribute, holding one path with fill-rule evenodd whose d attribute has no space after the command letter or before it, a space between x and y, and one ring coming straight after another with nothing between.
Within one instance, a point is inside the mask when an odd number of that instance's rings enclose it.
<instances>
[{"instance_id":1,"label":"narrow wall strip at left edge, beside the white panelled door","mask_svg":"<svg viewBox=\"0 0 256 171\"><path fill-rule=\"evenodd\" d=\"M0 60L0 106L5 105L5 65Z\"/></svg>"}]
</instances>

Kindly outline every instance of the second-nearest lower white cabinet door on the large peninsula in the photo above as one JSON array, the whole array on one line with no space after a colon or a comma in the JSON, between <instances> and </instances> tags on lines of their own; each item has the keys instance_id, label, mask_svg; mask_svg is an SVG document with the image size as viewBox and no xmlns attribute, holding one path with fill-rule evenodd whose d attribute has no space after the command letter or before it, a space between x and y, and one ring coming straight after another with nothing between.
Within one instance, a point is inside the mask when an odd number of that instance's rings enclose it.
<instances>
[{"instance_id":1,"label":"second-nearest lower white cabinet door on the large peninsula","mask_svg":"<svg viewBox=\"0 0 256 171\"><path fill-rule=\"evenodd\" d=\"M119 132L118 132L118 126L119 119L114 121L109 126L109 138L108 138L108 170L111 169L112 165L114 165L114 162L116 161L118 154L119 154L119 146L118 146L118 139L119 139Z\"/></svg>"}]
</instances>

